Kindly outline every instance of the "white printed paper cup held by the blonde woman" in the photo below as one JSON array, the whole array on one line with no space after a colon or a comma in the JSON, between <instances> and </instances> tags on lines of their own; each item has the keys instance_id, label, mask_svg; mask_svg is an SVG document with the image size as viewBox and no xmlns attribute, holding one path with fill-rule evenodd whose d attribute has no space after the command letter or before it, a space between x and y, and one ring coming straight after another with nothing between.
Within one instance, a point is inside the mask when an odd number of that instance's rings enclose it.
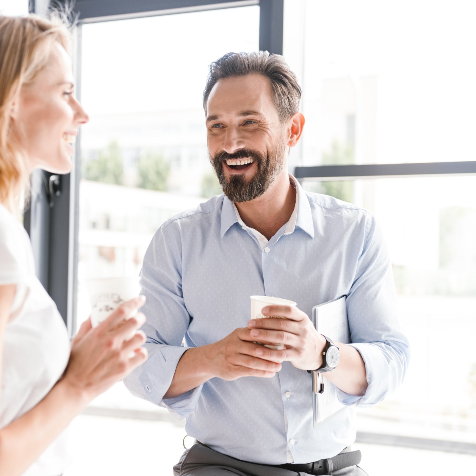
<instances>
[{"instance_id":1,"label":"white printed paper cup held by the blonde woman","mask_svg":"<svg viewBox=\"0 0 476 476\"><path fill-rule=\"evenodd\" d=\"M88 279L86 288L91 300L91 324L96 327L122 303L139 296L139 277ZM137 313L135 309L130 316Z\"/></svg>"}]
</instances>

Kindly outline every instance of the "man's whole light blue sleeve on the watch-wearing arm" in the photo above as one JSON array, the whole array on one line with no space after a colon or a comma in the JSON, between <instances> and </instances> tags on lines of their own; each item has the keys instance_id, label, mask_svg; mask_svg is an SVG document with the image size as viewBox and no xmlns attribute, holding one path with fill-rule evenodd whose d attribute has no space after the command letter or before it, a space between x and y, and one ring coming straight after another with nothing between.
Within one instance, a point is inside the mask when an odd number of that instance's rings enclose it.
<instances>
[{"instance_id":1,"label":"man's whole light blue sleeve on the watch-wearing arm","mask_svg":"<svg viewBox=\"0 0 476 476\"><path fill-rule=\"evenodd\" d=\"M403 382L410 347L397 320L396 301L392 266L382 231L369 213L355 280L347 294L350 345L364 361L368 387L360 397L337 388L341 403L371 407Z\"/></svg>"}]
</instances>

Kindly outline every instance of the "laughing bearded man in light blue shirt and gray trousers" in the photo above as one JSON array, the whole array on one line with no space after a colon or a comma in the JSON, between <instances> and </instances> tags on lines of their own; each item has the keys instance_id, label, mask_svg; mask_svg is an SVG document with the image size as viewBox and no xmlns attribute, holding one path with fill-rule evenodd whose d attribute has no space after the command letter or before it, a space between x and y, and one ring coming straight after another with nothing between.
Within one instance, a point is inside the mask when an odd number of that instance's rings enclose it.
<instances>
[{"instance_id":1,"label":"laughing bearded man in light blue shirt and gray trousers","mask_svg":"<svg viewBox=\"0 0 476 476\"><path fill-rule=\"evenodd\" d=\"M200 443L176 475L365 474L355 458L335 457L350 454L354 404L381 401L405 375L409 349L374 218L288 175L300 96L278 55L229 53L210 66L203 105L224 195L164 223L144 258L150 357L125 384L187 418ZM297 307L269 306L265 316L287 319L250 321L251 295ZM347 407L314 429L307 370L326 365L328 343L308 316L341 295L352 344L335 343L339 363L324 375Z\"/></svg>"}]
</instances>

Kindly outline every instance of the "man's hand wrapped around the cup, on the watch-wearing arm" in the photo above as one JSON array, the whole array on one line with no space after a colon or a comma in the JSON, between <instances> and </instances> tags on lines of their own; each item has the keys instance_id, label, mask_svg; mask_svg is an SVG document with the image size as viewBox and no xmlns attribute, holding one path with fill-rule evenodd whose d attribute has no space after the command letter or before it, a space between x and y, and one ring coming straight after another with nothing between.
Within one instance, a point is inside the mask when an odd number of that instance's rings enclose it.
<instances>
[{"instance_id":1,"label":"man's hand wrapped around the cup, on the watch-wearing arm","mask_svg":"<svg viewBox=\"0 0 476 476\"><path fill-rule=\"evenodd\" d=\"M263 307L261 313L286 319L251 319L248 322L249 337L245 335L245 340L284 344L285 350L281 351L284 353L283 360L303 370L313 370L322 365L326 339L317 332L307 314L297 307L277 305Z\"/></svg>"}]
</instances>

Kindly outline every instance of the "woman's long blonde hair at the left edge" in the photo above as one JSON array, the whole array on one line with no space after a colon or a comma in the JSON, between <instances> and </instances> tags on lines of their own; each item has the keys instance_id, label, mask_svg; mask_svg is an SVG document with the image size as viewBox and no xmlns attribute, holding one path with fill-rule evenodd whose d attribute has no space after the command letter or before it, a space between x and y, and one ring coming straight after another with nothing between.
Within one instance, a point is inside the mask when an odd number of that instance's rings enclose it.
<instances>
[{"instance_id":1,"label":"woman's long blonde hair at the left edge","mask_svg":"<svg viewBox=\"0 0 476 476\"><path fill-rule=\"evenodd\" d=\"M29 177L21 131L13 130L10 114L20 89L47 66L55 41L70 50L69 29L61 15L49 19L0 15L0 203L12 212L20 205Z\"/></svg>"}]
</instances>

